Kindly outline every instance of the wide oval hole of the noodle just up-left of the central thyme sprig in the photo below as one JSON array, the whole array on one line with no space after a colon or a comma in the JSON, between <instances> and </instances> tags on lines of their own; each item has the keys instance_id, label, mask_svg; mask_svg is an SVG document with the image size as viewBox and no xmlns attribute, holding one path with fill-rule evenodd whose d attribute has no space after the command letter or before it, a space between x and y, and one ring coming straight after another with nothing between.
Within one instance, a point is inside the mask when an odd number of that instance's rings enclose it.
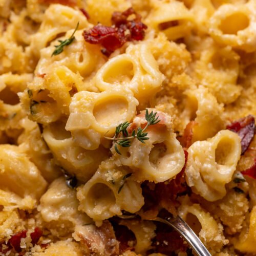
<instances>
[{"instance_id":1,"label":"wide oval hole of the noodle just up-left of the central thyme sprig","mask_svg":"<svg viewBox=\"0 0 256 256\"><path fill-rule=\"evenodd\" d=\"M96 102L93 109L95 120L101 124L110 126L118 123L127 114L128 102L124 97L108 98Z\"/></svg>"}]
</instances>

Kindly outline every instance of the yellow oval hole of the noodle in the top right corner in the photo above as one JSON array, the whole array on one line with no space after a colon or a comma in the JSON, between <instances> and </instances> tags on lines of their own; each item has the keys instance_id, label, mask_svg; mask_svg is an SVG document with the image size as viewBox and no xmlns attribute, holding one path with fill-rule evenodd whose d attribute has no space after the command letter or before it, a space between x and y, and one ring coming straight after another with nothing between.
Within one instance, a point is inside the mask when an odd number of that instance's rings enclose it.
<instances>
[{"instance_id":1,"label":"yellow oval hole of the noodle in the top right corner","mask_svg":"<svg viewBox=\"0 0 256 256\"><path fill-rule=\"evenodd\" d=\"M223 34L234 34L244 30L249 26L249 18L243 13L233 13L222 20L219 29Z\"/></svg>"}]
</instances>

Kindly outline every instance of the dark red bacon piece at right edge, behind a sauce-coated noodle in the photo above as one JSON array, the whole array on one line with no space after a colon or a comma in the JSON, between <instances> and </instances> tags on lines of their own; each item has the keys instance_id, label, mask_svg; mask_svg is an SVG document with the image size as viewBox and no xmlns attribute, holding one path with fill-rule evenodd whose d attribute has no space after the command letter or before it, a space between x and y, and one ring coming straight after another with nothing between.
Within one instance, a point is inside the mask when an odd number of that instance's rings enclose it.
<instances>
[{"instance_id":1,"label":"dark red bacon piece at right edge, behind a sauce-coated noodle","mask_svg":"<svg viewBox=\"0 0 256 256\"><path fill-rule=\"evenodd\" d=\"M241 155L243 155L249 147L255 134L254 116L249 115L247 117L240 118L239 120L227 125L226 128L239 135L242 147Z\"/></svg>"}]
</instances>

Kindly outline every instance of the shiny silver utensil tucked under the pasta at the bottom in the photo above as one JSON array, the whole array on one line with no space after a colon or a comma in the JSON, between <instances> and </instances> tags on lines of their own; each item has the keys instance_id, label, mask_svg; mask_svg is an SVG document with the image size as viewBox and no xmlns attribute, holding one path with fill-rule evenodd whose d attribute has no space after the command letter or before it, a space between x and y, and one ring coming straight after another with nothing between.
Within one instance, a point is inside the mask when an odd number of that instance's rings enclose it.
<instances>
[{"instance_id":1,"label":"shiny silver utensil tucked under the pasta at the bottom","mask_svg":"<svg viewBox=\"0 0 256 256\"><path fill-rule=\"evenodd\" d=\"M134 219L137 216L122 215L117 217L121 219ZM191 248L196 252L198 256L211 256L211 254L206 249L201 240L197 237L195 232L187 225L187 223L180 216L177 215L175 217L167 217L166 219L156 217L151 221L162 222L168 226L173 227L187 241L187 243L191 246Z\"/></svg>"}]
</instances>

